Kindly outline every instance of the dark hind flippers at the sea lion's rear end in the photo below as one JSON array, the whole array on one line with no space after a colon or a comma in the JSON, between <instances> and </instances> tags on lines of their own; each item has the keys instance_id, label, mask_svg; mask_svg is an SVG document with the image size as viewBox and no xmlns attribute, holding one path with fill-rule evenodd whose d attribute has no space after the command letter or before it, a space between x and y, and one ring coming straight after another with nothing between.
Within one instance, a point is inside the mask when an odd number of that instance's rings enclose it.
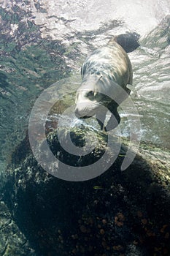
<instances>
[{"instance_id":1,"label":"dark hind flippers at the sea lion's rear end","mask_svg":"<svg viewBox=\"0 0 170 256\"><path fill-rule=\"evenodd\" d=\"M113 37L109 40L108 45L112 42L117 42L126 53L131 53L133 50L139 47L139 34L136 33L127 33L119 34L118 36Z\"/></svg>"}]
</instances>

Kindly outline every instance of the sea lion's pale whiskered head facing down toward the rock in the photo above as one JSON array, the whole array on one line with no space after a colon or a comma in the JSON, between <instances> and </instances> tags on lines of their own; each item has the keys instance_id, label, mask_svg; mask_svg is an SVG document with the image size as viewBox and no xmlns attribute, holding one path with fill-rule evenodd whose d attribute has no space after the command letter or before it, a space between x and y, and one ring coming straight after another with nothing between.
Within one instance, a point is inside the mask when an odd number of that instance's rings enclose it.
<instances>
[{"instance_id":1,"label":"sea lion's pale whiskered head facing down toward the rock","mask_svg":"<svg viewBox=\"0 0 170 256\"><path fill-rule=\"evenodd\" d=\"M90 118L95 116L101 108L103 96L97 88L101 76L90 75L82 81L76 94L75 115L77 118Z\"/></svg>"}]
</instances>

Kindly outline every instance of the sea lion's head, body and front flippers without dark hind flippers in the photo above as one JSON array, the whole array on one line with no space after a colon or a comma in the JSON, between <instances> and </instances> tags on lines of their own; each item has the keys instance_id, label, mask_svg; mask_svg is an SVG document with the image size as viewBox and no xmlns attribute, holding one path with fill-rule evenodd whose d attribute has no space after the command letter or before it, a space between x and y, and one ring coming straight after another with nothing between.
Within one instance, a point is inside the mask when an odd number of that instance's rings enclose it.
<instances>
[{"instance_id":1,"label":"sea lion's head, body and front flippers without dark hind flippers","mask_svg":"<svg viewBox=\"0 0 170 256\"><path fill-rule=\"evenodd\" d=\"M131 91L128 84L132 85L133 77L131 61L117 41L117 37L110 39L106 46L94 50L82 64L82 83L75 101L74 113L78 118L96 115L101 129L107 131L120 123L117 107L128 97ZM107 110L112 115L104 127Z\"/></svg>"}]
</instances>

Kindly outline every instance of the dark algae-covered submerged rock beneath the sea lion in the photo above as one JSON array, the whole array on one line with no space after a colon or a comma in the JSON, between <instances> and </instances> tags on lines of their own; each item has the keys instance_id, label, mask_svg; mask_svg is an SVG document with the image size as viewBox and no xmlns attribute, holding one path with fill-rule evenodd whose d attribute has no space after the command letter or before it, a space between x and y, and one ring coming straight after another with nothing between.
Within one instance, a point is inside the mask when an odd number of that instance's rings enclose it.
<instances>
[{"instance_id":1,"label":"dark algae-covered submerged rock beneath the sea lion","mask_svg":"<svg viewBox=\"0 0 170 256\"><path fill-rule=\"evenodd\" d=\"M95 134L98 143L90 154L77 157L61 148L56 131L50 132L48 145L61 161L88 166L104 154L106 133L63 129L64 140L69 132L76 146L85 145L86 132ZM95 136L90 140L94 143ZM43 143L37 144L39 152ZM169 152L141 144L134 162L120 171L127 145L123 139L116 161L101 176L70 182L39 166L27 135L6 172L0 211L6 209L15 231L1 228L0 247L6 239L11 249L1 255L169 255ZM114 152L107 150L112 158Z\"/></svg>"}]
</instances>

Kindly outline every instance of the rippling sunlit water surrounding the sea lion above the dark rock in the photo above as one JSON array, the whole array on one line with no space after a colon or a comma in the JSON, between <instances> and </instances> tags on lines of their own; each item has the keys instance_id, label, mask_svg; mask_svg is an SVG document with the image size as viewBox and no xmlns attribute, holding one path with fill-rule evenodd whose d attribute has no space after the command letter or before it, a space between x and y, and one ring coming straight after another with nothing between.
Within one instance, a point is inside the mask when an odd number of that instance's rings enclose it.
<instances>
[{"instance_id":1,"label":"rippling sunlit water surrounding the sea lion above the dark rock","mask_svg":"<svg viewBox=\"0 0 170 256\"><path fill-rule=\"evenodd\" d=\"M88 53L126 31L140 36L141 47L129 57L142 140L170 148L169 12L168 0L0 1L1 166L26 135L39 94L57 80L80 74ZM121 133L128 136L121 116Z\"/></svg>"}]
</instances>

